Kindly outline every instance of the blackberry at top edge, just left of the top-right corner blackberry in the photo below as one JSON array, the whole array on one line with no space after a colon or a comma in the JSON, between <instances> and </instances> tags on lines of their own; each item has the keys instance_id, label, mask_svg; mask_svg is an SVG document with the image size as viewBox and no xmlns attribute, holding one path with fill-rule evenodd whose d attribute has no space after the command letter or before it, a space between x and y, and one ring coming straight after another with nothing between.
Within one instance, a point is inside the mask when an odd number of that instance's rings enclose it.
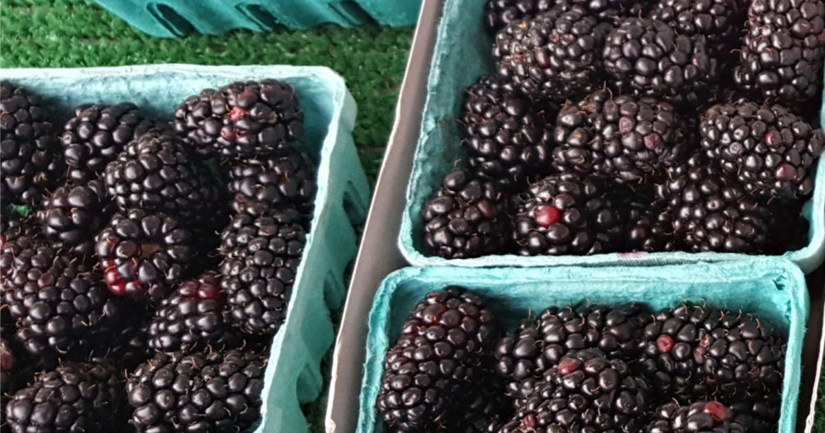
<instances>
[{"instance_id":1,"label":"blackberry at top edge, just left of the top-right corner blackberry","mask_svg":"<svg viewBox=\"0 0 825 433\"><path fill-rule=\"evenodd\" d=\"M672 26L680 35L704 35L720 59L738 42L742 12L733 0L663 0L648 16Z\"/></svg>"}]
</instances>

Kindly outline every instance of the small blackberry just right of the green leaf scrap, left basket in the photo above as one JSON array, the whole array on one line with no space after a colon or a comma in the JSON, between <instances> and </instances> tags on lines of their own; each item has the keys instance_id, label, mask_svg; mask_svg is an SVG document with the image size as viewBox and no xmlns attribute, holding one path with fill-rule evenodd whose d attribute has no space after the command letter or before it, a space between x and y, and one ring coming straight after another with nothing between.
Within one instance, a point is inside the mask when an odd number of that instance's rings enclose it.
<instances>
[{"instance_id":1,"label":"small blackberry just right of the green leaf scrap, left basket","mask_svg":"<svg viewBox=\"0 0 825 433\"><path fill-rule=\"evenodd\" d=\"M94 238L114 211L102 181L69 183L43 199L37 218L56 247L80 255L94 252Z\"/></svg>"}]
</instances>

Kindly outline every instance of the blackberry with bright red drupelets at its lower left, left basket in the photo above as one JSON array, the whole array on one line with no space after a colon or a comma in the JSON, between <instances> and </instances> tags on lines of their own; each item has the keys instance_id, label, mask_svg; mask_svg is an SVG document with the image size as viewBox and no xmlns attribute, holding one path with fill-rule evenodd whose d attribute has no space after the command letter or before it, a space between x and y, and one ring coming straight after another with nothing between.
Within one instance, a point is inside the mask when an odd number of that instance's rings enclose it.
<instances>
[{"instance_id":1,"label":"blackberry with bright red drupelets at its lower left, left basket","mask_svg":"<svg viewBox=\"0 0 825 433\"><path fill-rule=\"evenodd\" d=\"M163 212L118 212L97 235L95 252L113 294L162 299L191 260L191 232Z\"/></svg>"}]
</instances>

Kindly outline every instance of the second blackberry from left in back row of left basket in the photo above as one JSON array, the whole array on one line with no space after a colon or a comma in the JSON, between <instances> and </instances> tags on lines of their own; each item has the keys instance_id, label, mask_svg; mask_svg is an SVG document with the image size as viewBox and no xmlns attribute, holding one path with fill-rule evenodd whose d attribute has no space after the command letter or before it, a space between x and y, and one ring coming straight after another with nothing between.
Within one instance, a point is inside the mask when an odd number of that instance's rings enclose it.
<instances>
[{"instance_id":1,"label":"second blackberry from left in back row of left basket","mask_svg":"<svg viewBox=\"0 0 825 433\"><path fill-rule=\"evenodd\" d=\"M101 176L126 144L154 125L131 102L78 106L60 136L68 178L89 181Z\"/></svg>"}]
</instances>

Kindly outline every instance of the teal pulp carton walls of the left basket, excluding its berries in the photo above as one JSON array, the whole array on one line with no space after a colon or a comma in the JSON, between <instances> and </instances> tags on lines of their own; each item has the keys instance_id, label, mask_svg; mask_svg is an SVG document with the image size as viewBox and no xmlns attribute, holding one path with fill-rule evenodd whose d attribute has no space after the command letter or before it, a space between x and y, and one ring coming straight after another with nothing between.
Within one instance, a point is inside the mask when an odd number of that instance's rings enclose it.
<instances>
[{"instance_id":1,"label":"teal pulp carton walls of the left basket, excluding its berries","mask_svg":"<svg viewBox=\"0 0 825 433\"><path fill-rule=\"evenodd\" d=\"M318 167L312 230L266 366L262 422L257 432L308 431L300 404L318 398L321 359L335 332L329 310L341 308L344 271L355 257L370 188L352 141L356 104L328 68L163 64L118 68L2 69L0 78L29 88L68 117L85 102L132 101L171 118L186 96L238 80L276 78L295 87L305 116L303 150Z\"/></svg>"}]
</instances>

